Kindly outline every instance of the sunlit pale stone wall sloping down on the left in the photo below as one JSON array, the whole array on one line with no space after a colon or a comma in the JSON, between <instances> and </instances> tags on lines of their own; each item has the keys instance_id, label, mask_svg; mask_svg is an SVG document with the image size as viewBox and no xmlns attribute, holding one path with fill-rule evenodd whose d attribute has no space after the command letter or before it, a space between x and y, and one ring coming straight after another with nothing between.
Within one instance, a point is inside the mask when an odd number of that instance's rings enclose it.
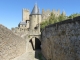
<instances>
[{"instance_id":1,"label":"sunlit pale stone wall sloping down on the left","mask_svg":"<svg viewBox=\"0 0 80 60\"><path fill-rule=\"evenodd\" d=\"M0 60L11 60L26 51L26 40L0 24Z\"/></svg>"}]
</instances>

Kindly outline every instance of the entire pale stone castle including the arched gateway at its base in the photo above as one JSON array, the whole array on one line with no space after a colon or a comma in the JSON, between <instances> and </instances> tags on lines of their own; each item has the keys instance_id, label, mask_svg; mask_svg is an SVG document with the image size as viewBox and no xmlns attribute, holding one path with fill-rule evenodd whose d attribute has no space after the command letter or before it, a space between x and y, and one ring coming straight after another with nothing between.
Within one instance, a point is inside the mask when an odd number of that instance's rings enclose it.
<instances>
[{"instance_id":1,"label":"entire pale stone castle including the arched gateway at its base","mask_svg":"<svg viewBox=\"0 0 80 60\"><path fill-rule=\"evenodd\" d=\"M40 14L37 4L34 5L31 13L28 9L22 10L22 21L18 24L18 27L13 29L13 31L26 39L26 50L40 49L40 23L48 19L51 13L54 13L55 17L60 15L59 10L42 10L42 13Z\"/></svg>"}]
</instances>

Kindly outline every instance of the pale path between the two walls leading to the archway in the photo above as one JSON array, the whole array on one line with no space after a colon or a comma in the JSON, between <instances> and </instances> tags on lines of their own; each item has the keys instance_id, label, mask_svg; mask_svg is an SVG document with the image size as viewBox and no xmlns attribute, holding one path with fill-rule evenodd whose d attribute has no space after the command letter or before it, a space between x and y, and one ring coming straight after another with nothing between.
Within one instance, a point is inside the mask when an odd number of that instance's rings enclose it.
<instances>
[{"instance_id":1,"label":"pale path between the two walls leading to the archway","mask_svg":"<svg viewBox=\"0 0 80 60\"><path fill-rule=\"evenodd\" d=\"M46 59L43 57L41 50L36 50L36 51L28 51L12 60L46 60Z\"/></svg>"}]
</instances>

